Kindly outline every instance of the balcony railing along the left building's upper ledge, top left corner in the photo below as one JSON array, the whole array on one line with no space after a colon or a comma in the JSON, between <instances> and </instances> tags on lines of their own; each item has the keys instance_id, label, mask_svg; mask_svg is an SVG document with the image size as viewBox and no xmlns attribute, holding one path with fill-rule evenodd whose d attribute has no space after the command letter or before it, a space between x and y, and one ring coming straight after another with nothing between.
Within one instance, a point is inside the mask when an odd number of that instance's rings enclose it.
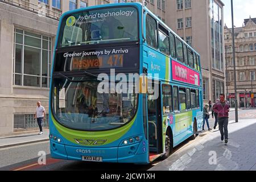
<instances>
[{"instance_id":1,"label":"balcony railing along the left building's upper ledge, top left corner","mask_svg":"<svg viewBox=\"0 0 256 182\"><path fill-rule=\"evenodd\" d=\"M20 7L22 9L36 13L39 16L46 16L55 20L59 20L62 13L61 10L50 10L49 6L44 3L39 2L38 4L34 4L29 2L29 0L0 0L0 2L5 2L9 5Z\"/></svg>"}]
</instances>

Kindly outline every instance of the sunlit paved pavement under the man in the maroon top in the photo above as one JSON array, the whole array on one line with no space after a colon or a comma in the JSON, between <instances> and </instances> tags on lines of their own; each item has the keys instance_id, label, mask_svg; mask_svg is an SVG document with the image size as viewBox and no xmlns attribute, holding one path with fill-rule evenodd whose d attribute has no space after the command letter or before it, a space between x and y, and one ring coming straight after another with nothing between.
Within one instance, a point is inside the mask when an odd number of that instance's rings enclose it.
<instances>
[{"instance_id":1,"label":"sunlit paved pavement under the man in the maroon top","mask_svg":"<svg viewBox=\"0 0 256 182\"><path fill-rule=\"evenodd\" d=\"M229 142L218 129L200 133L150 171L256 171L256 119L230 121Z\"/></svg>"}]
</instances>

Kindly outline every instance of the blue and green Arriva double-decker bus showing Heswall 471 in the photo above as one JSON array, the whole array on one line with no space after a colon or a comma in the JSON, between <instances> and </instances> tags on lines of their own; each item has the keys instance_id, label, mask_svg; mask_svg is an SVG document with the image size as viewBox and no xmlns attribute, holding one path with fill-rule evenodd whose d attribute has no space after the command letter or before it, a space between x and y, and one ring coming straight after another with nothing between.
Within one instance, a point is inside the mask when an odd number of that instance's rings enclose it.
<instances>
[{"instance_id":1,"label":"blue and green Arriva double-decker bus showing Heswall 471","mask_svg":"<svg viewBox=\"0 0 256 182\"><path fill-rule=\"evenodd\" d=\"M143 76L125 82L131 73ZM122 81L110 79L118 75ZM129 86L113 90L120 82ZM144 3L68 11L53 52L51 157L135 164L167 158L201 130L201 85L199 53Z\"/></svg>"}]
</instances>

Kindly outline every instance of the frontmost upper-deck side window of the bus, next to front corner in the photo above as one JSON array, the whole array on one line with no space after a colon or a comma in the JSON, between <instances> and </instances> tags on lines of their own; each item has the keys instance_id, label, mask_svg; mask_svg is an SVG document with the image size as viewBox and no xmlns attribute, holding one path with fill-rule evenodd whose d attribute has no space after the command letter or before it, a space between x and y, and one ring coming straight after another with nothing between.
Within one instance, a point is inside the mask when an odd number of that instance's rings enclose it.
<instances>
[{"instance_id":1,"label":"frontmost upper-deck side window of the bus, next to front corner","mask_svg":"<svg viewBox=\"0 0 256 182\"><path fill-rule=\"evenodd\" d=\"M157 23L149 14L146 17L146 39L148 46L158 49Z\"/></svg>"}]
</instances>

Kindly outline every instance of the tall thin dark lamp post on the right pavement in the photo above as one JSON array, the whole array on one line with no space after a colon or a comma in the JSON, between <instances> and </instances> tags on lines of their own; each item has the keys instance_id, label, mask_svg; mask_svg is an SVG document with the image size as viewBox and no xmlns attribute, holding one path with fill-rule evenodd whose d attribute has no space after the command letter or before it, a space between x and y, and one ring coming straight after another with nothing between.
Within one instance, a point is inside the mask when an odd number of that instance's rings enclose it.
<instances>
[{"instance_id":1,"label":"tall thin dark lamp post on the right pavement","mask_svg":"<svg viewBox=\"0 0 256 182\"><path fill-rule=\"evenodd\" d=\"M233 12L233 0L231 0L231 16L232 16L232 39L233 39L233 63L234 63L234 91L235 91L235 116L236 122L238 122L238 109L237 109L237 76L236 76L236 55L234 46L234 12Z\"/></svg>"}]
</instances>

